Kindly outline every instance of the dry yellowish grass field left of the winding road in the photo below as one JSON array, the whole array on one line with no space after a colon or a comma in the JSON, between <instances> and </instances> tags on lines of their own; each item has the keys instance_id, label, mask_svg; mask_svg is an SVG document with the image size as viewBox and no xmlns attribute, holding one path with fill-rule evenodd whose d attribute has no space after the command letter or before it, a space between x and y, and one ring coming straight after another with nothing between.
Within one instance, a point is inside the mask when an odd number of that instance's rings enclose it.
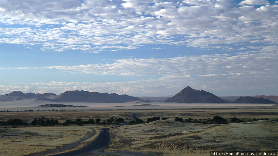
<instances>
[{"instance_id":1,"label":"dry yellowish grass field left of the winding road","mask_svg":"<svg viewBox=\"0 0 278 156\"><path fill-rule=\"evenodd\" d=\"M98 133L82 143L94 140L103 126L92 126ZM63 147L92 133L90 126L35 126L0 128L0 155L29 155L56 147ZM81 144L78 148L82 148ZM70 151L70 150L69 150Z\"/></svg>"}]
</instances>

